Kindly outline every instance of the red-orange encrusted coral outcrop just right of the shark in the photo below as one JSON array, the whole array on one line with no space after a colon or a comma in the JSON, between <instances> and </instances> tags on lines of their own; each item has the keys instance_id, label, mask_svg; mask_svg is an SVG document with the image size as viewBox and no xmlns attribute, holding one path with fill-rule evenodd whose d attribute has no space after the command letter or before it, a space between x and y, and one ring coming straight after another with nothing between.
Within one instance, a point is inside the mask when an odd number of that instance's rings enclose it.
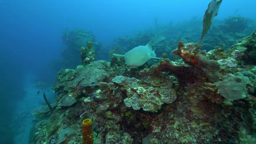
<instances>
[{"instance_id":1,"label":"red-orange encrusted coral outcrop just right of the shark","mask_svg":"<svg viewBox=\"0 0 256 144\"><path fill-rule=\"evenodd\" d=\"M188 80L193 83L197 80L204 79L208 82L217 82L220 76L220 64L216 60L210 60L206 57L204 51L199 51L199 45L194 43L184 44L179 42L178 48L173 51L174 54L180 56L186 64L180 64L176 66L173 62L168 60L160 62L161 70L168 70L178 78ZM166 64L167 63L167 64ZM194 73L196 72L196 73ZM182 75L182 77L180 77ZM185 78L185 79L184 79ZM192 79L191 79L192 78Z\"/></svg>"}]
</instances>

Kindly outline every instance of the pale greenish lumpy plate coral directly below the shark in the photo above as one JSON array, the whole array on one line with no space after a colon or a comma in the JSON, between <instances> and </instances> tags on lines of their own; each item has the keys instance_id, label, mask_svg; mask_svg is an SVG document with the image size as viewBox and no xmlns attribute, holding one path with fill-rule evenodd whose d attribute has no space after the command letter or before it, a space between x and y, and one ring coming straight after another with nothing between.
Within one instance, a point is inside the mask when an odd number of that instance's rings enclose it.
<instances>
[{"instance_id":1,"label":"pale greenish lumpy plate coral directly below the shark","mask_svg":"<svg viewBox=\"0 0 256 144\"><path fill-rule=\"evenodd\" d=\"M140 73L146 75L145 71ZM112 82L126 91L127 98L124 99L124 104L134 110L142 108L144 111L157 112L162 104L170 104L176 100L176 92L172 88L171 78L168 77L154 81L147 76L139 81L136 78L116 76L112 78Z\"/></svg>"}]
</instances>

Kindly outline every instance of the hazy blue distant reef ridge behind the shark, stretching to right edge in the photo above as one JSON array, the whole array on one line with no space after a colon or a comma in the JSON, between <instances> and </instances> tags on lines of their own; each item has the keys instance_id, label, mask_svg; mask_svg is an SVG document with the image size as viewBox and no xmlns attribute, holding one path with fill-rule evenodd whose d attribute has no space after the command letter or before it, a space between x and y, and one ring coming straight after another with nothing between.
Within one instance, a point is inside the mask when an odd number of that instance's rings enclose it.
<instances>
[{"instance_id":1,"label":"hazy blue distant reef ridge behind the shark, stretching to right edge","mask_svg":"<svg viewBox=\"0 0 256 144\"><path fill-rule=\"evenodd\" d=\"M229 21L233 21L228 25ZM237 20L237 22L236 22ZM240 28L236 28L241 24ZM246 26L247 25L247 26ZM229 17L226 20L214 20L211 28L202 40L202 50L213 50L217 46L224 46L228 49L241 38L248 36L255 30L255 22L242 16ZM162 42L153 44L156 48L156 56L161 56L164 52L168 54L168 58L172 58L172 51L176 48L177 42L183 41L184 43L198 42L201 38L202 19L192 17L190 20L180 22L174 25L172 22L162 25L155 31L144 30L138 32L136 35L120 36L114 39L114 46L119 47L120 54L128 52L132 48L141 44L146 44L148 41L164 36L166 39Z\"/></svg>"}]
</instances>

